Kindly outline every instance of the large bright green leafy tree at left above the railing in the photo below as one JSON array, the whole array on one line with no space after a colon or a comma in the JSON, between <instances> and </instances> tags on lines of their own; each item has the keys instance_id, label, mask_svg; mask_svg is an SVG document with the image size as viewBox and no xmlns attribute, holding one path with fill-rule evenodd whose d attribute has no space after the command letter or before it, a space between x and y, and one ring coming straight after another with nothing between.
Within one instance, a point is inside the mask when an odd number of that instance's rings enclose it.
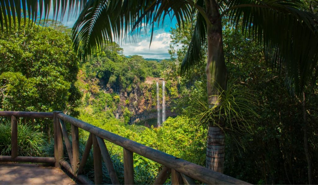
<instances>
[{"instance_id":1,"label":"large bright green leafy tree at left above the railing","mask_svg":"<svg viewBox=\"0 0 318 185\"><path fill-rule=\"evenodd\" d=\"M79 60L68 35L52 28L11 29L0 39L1 110L73 114Z\"/></svg>"}]
</instances>

